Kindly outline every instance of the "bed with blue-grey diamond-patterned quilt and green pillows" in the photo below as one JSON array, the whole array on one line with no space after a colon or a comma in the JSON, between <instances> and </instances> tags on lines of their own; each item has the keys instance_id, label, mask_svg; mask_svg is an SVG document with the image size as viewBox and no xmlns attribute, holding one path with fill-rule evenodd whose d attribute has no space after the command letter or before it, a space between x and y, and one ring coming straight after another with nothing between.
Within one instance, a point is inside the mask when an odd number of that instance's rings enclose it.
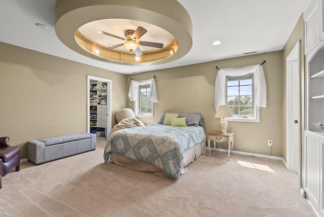
<instances>
[{"instance_id":1,"label":"bed with blue-grey diamond-patterned quilt and green pillows","mask_svg":"<svg viewBox=\"0 0 324 217\"><path fill-rule=\"evenodd\" d=\"M113 131L104 161L178 180L186 166L205 152L206 135L199 113L163 113L157 124Z\"/></svg>"}]
</instances>

